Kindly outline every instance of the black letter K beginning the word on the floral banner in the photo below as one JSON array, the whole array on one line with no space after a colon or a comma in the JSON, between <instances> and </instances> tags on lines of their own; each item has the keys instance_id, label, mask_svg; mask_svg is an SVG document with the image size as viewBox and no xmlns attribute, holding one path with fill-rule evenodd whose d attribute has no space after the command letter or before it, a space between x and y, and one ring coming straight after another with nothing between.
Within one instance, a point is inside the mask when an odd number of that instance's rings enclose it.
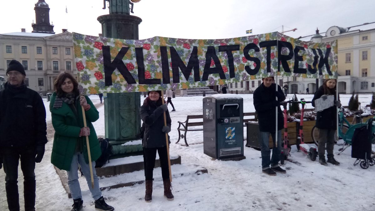
<instances>
[{"instance_id":1,"label":"black letter K beginning the word on the floral banner","mask_svg":"<svg viewBox=\"0 0 375 211\"><path fill-rule=\"evenodd\" d=\"M126 52L129 50L129 47L122 47L121 50L116 55L113 62L111 62L111 50L110 46L103 46L103 61L104 61L104 81L105 86L112 86L112 73L117 70L121 73L128 84L135 84L135 80L130 74L129 70L126 68L126 65L123 62L123 58Z\"/></svg>"}]
</instances>

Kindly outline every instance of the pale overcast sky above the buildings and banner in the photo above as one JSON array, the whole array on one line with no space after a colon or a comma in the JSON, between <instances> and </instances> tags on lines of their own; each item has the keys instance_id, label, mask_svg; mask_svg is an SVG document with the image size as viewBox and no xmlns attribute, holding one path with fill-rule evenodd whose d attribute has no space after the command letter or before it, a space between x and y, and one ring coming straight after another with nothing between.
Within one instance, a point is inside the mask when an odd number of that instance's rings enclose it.
<instances>
[{"instance_id":1,"label":"pale overcast sky above the buildings and banner","mask_svg":"<svg viewBox=\"0 0 375 211\"><path fill-rule=\"evenodd\" d=\"M12 0L1 6L0 33L31 32L37 0ZM98 16L109 14L102 0L46 0L56 33L62 29L98 36ZM108 3L107 3L108 4ZM17 9L13 9L13 5ZM282 32L294 38L326 32L331 26L350 27L375 21L374 0L141 0L134 14L142 18L139 39L153 36L217 39ZM68 9L68 14L65 13ZM373 24L372 24L373 25Z\"/></svg>"}]
</instances>

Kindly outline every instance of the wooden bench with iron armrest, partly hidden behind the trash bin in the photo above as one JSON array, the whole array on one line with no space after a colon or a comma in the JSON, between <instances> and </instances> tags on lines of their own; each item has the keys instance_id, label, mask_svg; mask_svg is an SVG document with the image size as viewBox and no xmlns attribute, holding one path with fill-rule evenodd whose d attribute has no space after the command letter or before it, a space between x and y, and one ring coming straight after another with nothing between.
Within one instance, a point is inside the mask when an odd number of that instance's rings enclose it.
<instances>
[{"instance_id":1,"label":"wooden bench with iron armrest, partly hidden behind the trash bin","mask_svg":"<svg viewBox=\"0 0 375 211\"><path fill-rule=\"evenodd\" d=\"M255 118L251 118L251 116L254 116L255 112L250 113L243 113L243 127L246 127L245 123L249 121L255 121ZM245 118L246 116L246 118ZM190 119L202 119L199 122L189 122ZM181 127L182 126L182 127ZM180 142L180 139L183 138L185 140L185 145L183 146L189 146L186 141L186 133L187 131L202 131L203 127L200 128L189 128L194 126L203 126L203 115L187 115L186 121L180 122L178 121L178 140L176 143ZM184 131L184 134L181 134L181 131Z\"/></svg>"}]
</instances>

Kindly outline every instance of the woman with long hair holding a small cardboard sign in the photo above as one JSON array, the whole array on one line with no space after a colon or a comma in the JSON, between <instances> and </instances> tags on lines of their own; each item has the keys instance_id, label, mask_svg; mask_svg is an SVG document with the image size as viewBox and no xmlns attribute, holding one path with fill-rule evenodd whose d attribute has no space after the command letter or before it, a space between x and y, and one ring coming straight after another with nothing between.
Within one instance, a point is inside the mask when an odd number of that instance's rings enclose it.
<instances>
[{"instance_id":1,"label":"woman with long hair holding a small cardboard sign","mask_svg":"<svg viewBox=\"0 0 375 211\"><path fill-rule=\"evenodd\" d=\"M326 79L322 86L315 92L314 98L312 99L312 106L315 107L315 100L319 98L327 99L327 95L334 95L335 101L332 107L328 109L324 109L323 111L317 112L317 121L315 123L315 127L318 128L319 131L319 139L318 139L318 155L319 155L319 163L327 166L328 163L332 163L336 166L340 165L340 163L334 158L333 155L333 146L335 146L335 133L336 133L336 116L337 107L341 107L341 103L339 100L336 100L336 79ZM339 98L340 99L340 98ZM326 158L324 157L325 151L327 149L327 162Z\"/></svg>"}]
</instances>

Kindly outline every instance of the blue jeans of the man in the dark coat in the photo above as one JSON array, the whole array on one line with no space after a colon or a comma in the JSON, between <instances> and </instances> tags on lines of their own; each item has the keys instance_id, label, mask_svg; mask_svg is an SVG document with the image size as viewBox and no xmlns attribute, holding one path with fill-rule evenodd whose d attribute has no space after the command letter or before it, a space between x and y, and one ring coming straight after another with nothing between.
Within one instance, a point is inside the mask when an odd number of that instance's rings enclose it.
<instances>
[{"instance_id":1,"label":"blue jeans of the man in the dark coat","mask_svg":"<svg viewBox=\"0 0 375 211\"><path fill-rule=\"evenodd\" d=\"M272 158L270 159L271 150L269 147L269 137L272 136L273 145L275 146L275 133L260 131L260 143L262 153L262 169L278 167L281 155L281 130L278 131L278 147L273 147Z\"/></svg>"}]
</instances>

